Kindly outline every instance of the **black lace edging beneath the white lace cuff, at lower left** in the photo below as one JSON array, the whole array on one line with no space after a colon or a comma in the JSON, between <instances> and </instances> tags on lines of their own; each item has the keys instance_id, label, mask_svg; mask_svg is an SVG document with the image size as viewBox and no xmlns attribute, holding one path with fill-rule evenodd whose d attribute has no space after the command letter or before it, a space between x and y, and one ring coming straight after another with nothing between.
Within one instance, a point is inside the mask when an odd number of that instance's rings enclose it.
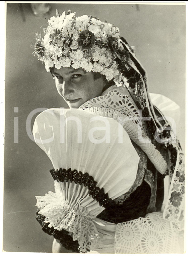
<instances>
[{"instance_id":1,"label":"black lace edging beneath the white lace cuff, at lower left","mask_svg":"<svg viewBox=\"0 0 188 256\"><path fill-rule=\"evenodd\" d=\"M36 219L40 223L42 230L45 233L47 233L49 235L53 235L54 238L58 239L60 241L61 245L63 247L65 247L67 250L72 250L76 253L79 253L80 250L79 250L78 241L73 241L72 236L70 236L68 234L68 231L66 231L64 229L59 231L59 230L54 229L53 227L52 228L48 227L48 225L50 223L44 222L46 217L44 215L39 214L39 211L40 211L40 209L38 209L36 212Z\"/></svg>"}]
</instances>

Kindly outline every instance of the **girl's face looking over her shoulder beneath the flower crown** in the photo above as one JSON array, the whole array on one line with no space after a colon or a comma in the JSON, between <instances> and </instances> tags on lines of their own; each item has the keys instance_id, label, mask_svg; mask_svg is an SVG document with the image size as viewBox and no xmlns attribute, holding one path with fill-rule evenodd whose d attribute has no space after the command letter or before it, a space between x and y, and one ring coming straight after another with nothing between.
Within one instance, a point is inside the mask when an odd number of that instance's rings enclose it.
<instances>
[{"instance_id":1,"label":"girl's face looking over her shoulder beneath the flower crown","mask_svg":"<svg viewBox=\"0 0 188 256\"><path fill-rule=\"evenodd\" d=\"M100 96L106 84L102 76L95 79L96 73L85 72L82 68L54 68L51 73L58 93L70 108L78 108L87 100Z\"/></svg>"}]
</instances>

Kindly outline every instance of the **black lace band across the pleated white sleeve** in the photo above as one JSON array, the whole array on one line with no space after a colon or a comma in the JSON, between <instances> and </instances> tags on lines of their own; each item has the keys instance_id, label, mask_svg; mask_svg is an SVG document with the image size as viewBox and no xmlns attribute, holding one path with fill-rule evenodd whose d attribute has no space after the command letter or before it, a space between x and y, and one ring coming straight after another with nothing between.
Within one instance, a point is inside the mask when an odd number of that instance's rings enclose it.
<instances>
[{"instance_id":1,"label":"black lace band across the pleated white sleeve","mask_svg":"<svg viewBox=\"0 0 188 256\"><path fill-rule=\"evenodd\" d=\"M75 182L76 184L79 183L80 185L83 184L84 187L87 186L89 195L92 196L93 199L96 199L99 202L100 206L104 206L107 208L108 206L112 206L113 202L112 199L109 198L108 193L105 194L104 189L100 189L97 187L97 182L90 176L87 172L82 173L81 171L68 170L60 168L59 170L51 169L50 173L52 177L57 182Z\"/></svg>"}]
</instances>

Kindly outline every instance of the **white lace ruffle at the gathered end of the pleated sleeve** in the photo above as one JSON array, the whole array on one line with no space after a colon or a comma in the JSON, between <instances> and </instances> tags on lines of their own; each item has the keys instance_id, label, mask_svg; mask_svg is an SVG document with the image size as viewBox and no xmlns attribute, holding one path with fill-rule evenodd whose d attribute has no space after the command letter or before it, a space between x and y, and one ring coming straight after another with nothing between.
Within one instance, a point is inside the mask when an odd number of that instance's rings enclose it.
<instances>
[{"instance_id":1,"label":"white lace ruffle at the gathered end of the pleated sleeve","mask_svg":"<svg viewBox=\"0 0 188 256\"><path fill-rule=\"evenodd\" d=\"M71 204L58 200L56 193L49 191L45 196L36 196L39 214L46 216L45 222L49 227L72 233L74 241L78 241L80 251L92 250L100 239L99 232L93 221L81 214Z\"/></svg>"}]
</instances>

